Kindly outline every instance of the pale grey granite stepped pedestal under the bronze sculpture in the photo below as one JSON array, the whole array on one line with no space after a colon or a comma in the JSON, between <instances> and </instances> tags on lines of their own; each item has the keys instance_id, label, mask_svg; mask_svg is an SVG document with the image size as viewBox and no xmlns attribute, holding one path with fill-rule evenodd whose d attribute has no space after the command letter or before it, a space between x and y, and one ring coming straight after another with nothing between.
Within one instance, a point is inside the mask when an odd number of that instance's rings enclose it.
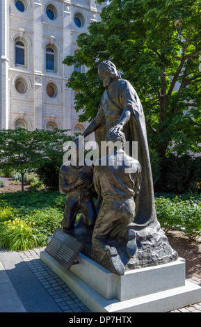
<instances>
[{"instance_id":1,"label":"pale grey granite stepped pedestal under the bronze sculpture","mask_svg":"<svg viewBox=\"0 0 201 327\"><path fill-rule=\"evenodd\" d=\"M185 261L161 264L117 276L80 253L66 271L45 252L40 259L92 312L168 312L201 301L201 287L185 280Z\"/></svg>"}]
</instances>

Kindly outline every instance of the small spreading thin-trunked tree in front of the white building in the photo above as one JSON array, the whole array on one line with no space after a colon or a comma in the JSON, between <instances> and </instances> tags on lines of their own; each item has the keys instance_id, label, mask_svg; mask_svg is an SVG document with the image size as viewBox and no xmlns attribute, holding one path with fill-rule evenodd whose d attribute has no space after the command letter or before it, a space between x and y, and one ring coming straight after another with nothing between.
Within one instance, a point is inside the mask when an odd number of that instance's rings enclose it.
<instances>
[{"instance_id":1,"label":"small spreading thin-trunked tree in front of the white building","mask_svg":"<svg viewBox=\"0 0 201 327\"><path fill-rule=\"evenodd\" d=\"M63 143L72 139L66 135L67 130L54 129L45 131L35 129L1 129L0 130L0 168L13 168L22 175L24 191L24 174L49 167L54 161L55 169L62 164ZM51 166L51 165L50 165ZM46 171L51 178L52 171Z\"/></svg>"}]
</instances>

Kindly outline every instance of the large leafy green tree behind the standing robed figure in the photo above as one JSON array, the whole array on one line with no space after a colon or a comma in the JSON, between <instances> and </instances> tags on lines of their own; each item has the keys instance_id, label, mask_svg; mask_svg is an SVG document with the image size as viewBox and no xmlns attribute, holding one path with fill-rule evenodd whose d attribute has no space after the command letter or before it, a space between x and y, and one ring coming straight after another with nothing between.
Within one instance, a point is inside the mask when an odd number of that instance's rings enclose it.
<instances>
[{"instance_id":1,"label":"large leafy green tree behind the standing robed figure","mask_svg":"<svg viewBox=\"0 0 201 327\"><path fill-rule=\"evenodd\" d=\"M80 121L95 117L104 91L97 64L111 60L136 88L152 149L161 156L172 144L178 154L200 152L200 12L201 0L109 1L102 22L90 24L77 38L79 50L63 61L88 68L84 74L73 72L67 84L80 91Z\"/></svg>"}]
</instances>

